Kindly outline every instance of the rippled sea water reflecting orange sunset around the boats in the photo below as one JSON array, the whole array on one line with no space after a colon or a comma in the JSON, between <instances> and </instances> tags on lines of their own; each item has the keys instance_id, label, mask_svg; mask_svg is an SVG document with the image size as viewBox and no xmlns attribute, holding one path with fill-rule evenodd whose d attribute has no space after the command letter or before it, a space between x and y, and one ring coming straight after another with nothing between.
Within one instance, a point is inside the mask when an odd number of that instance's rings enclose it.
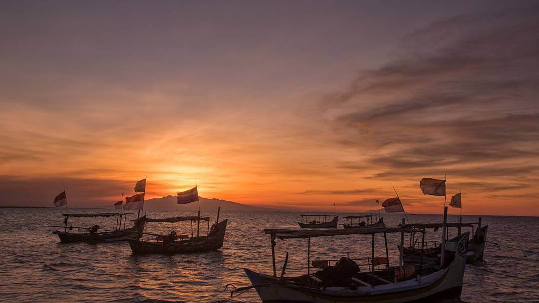
<instances>
[{"instance_id":1,"label":"rippled sea water reflecting orange sunset around the boats","mask_svg":"<svg viewBox=\"0 0 539 303\"><path fill-rule=\"evenodd\" d=\"M0 301L2 302L211 302L229 298L226 284L248 285L243 267L272 272L271 246L264 228L296 228L299 213L221 212L229 219L225 243L216 252L174 256L133 256L126 242L60 244L49 224L60 225L66 212L103 212L95 209L0 209ZM194 215L186 212L148 211L148 216ZM211 215L215 220L216 212ZM344 215L344 214L340 214ZM396 226L401 215L385 215ZM476 222L464 216L463 222ZM441 222L438 215L409 215L410 222ZM456 216L449 221L457 222ZM114 226L103 218L72 219L73 226ZM466 268L461 300L465 302L539 302L539 218L483 216L489 225L485 262ZM341 222L342 223L342 222ZM174 228L190 234L190 223L150 223L146 231ZM201 227L205 233L206 226ZM450 231L450 235L456 231ZM43 237L33 241L34 238ZM430 234L434 240L440 231ZM391 262L398 262L399 235L388 238ZM313 238L312 259L370 256L370 237ZM307 240L277 240L277 266L289 252L287 275L306 272ZM376 238L376 253L385 254L383 235ZM25 267L21 267L25 266ZM363 267L366 269L366 267ZM495 271L535 281L522 280ZM232 302L260 302L250 290Z\"/></svg>"}]
</instances>

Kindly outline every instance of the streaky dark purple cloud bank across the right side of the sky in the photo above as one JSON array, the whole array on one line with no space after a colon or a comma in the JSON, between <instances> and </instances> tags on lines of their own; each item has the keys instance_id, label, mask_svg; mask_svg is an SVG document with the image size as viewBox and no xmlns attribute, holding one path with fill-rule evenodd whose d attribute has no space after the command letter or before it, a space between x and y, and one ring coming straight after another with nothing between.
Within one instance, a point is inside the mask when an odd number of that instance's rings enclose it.
<instances>
[{"instance_id":1,"label":"streaky dark purple cloud bank across the right side of the sky","mask_svg":"<svg viewBox=\"0 0 539 303\"><path fill-rule=\"evenodd\" d=\"M447 173L480 191L535 186L537 16L533 7L433 23L407 36L397 59L324 96L334 142L365 159L338 167L377 180Z\"/></svg>"}]
</instances>

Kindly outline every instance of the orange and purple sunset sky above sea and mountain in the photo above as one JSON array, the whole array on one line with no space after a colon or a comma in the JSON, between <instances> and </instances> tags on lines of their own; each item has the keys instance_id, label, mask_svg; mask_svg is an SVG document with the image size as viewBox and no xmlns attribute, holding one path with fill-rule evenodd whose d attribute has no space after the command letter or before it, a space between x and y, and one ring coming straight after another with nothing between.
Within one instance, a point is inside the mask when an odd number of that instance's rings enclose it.
<instances>
[{"instance_id":1,"label":"orange and purple sunset sky above sea and mountain","mask_svg":"<svg viewBox=\"0 0 539 303\"><path fill-rule=\"evenodd\" d=\"M539 215L534 1L2 1L2 206ZM447 176L447 177L445 177ZM457 214L459 209L450 209Z\"/></svg>"}]
</instances>

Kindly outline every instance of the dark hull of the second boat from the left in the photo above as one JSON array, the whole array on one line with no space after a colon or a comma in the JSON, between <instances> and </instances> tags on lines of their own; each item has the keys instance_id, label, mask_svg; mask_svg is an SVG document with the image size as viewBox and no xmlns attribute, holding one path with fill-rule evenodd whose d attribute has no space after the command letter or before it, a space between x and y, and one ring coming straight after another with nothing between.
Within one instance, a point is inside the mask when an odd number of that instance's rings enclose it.
<instances>
[{"instance_id":1,"label":"dark hull of the second boat from the left","mask_svg":"<svg viewBox=\"0 0 539 303\"><path fill-rule=\"evenodd\" d=\"M208 236L190 238L184 241L165 244L163 242L140 241L127 239L134 255L149 255L152 253L174 254L214 251L223 247L227 220L215 225Z\"/></svg>"}]
</instances>

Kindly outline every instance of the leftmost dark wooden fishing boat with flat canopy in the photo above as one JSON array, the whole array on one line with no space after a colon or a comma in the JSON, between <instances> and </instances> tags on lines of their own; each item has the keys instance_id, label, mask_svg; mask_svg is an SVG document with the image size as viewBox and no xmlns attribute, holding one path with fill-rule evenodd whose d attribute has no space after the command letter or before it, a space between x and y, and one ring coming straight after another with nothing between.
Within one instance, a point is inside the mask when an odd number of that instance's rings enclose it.
<instances>
[{"instance_id":1,"label":"leftmost dark wooden fishing boat with flat canopy","mask_svg":"<svg viewBox=\"0 0 539 303\"><path fill-rule=\"evenodd\" d=\"M141 217L135 222L133 227L126 228L127 215L136 213L98 213L98 214L63 214L64 226L50 226L63 228L64 231L54 230L53 234L58 235L61 243L86 242L100 243L125 241L127 238L140 238L144 230L144 221ZM67 226L70 217L116 217L116 226L114 228L101 228L97 224L91 227L73 227ZM123 221L123 228L122 228ZM101 230L101 231L100 231Z\"/></svg>"}]
</instances>

